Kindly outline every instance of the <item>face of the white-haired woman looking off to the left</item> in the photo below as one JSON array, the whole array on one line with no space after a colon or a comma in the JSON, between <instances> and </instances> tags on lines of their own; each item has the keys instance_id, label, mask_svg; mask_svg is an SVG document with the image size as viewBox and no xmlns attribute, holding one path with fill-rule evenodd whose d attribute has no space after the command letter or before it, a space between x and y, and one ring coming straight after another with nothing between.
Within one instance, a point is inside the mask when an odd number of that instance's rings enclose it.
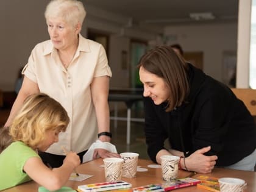
<instances>
[{"instance_id":1,"label":"face of the white-haired woman looking off to the left","mask_svg":"<svg viewBox=\"0 0 256 192\"><path fill-rule=\"evenodd\" d=\"M48 33L54 44L54 48L61 51L77 46L77 35L80 31L80 25L76 27L65 21L55 18L47 21Z\"/></svg>"}]
</instances>

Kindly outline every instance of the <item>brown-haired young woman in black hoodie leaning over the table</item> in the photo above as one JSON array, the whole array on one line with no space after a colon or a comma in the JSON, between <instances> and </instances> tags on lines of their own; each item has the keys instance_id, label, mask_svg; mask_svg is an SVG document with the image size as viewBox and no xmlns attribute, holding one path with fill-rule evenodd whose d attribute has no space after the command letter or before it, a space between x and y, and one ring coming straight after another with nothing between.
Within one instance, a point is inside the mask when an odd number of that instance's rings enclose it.
<instances>
[{"instance_id":1,"label":"brown-haired young woman in black hoodie leaning over the table","mask_svg":"<svg viewBox=\"0 0 256 192\"><path fill-rule=\"evenodd\" d=\"M170 46L144 54L139 68L146 143L154 162L172 154L182 157L180 168L189 171L254 170L254 118L229 87L184 62Z\"/></svg>"}]
</instances>

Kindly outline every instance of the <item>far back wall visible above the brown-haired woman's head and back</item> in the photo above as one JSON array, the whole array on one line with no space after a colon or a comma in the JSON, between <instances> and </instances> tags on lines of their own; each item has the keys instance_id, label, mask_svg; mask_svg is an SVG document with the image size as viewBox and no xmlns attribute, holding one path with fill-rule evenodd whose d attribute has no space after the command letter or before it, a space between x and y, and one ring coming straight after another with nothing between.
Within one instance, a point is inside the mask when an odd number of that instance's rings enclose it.
<instances>
[{"instance_id":1,"label":"far back wall visible above the brown-haired woman's head and back","mask_svg":"<svg viewBox=\"0 0 256 192\"><path fill-rule=\"evenodd\" d=\"M202 51L204 72L222 81L222 54L236 52L236 23L170 26L166 27L165 35L176 37L175 41L182 44L184 51Z\"/></svg>"}]
</instances>

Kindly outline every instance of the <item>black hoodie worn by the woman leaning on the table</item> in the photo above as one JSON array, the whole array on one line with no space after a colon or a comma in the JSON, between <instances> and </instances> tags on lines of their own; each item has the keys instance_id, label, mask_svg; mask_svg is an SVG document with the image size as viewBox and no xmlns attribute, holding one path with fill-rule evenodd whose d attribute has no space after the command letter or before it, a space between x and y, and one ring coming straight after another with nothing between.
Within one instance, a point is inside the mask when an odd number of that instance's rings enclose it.
<instances>
[{"instance_id":1,"label":"black hoodie worn by the woman leaning on the table","mask_svg":"<svg viewBox=\"0 0 256 192\"><path fill-rule=\"evenodd\" d=\"M218 155L217 166L228 166L256 148L256 128L242 101L229 87L189 64L190 94L180 107L165 112L166 103L155 105L144 98L145 134L148 154L156 162L157 152L169 139L172 149L189 152L206 146L205 155ZM182 147L183 146L183 147Z\"/></svg>"}]
</instances>

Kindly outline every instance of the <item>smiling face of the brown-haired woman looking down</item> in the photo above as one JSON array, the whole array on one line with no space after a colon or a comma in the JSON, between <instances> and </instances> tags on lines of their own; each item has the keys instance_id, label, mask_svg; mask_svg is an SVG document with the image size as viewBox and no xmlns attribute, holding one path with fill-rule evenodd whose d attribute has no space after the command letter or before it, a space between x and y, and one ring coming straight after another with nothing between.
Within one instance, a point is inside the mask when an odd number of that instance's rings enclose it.
<instances>
[{"instance_id":1,"label":"smiling face of the brown-haired woman looking down","mask_svg":"<svg viewBox=\"0 0 256 192\"><path fill-rule=\"evenodd\" d=\"M151 98L156 105L162 104L169 98L169 88L162 78L150 73L142 66L140 67L139 74L144 86L144 97Z\"/></svg>"}]
</instances>

